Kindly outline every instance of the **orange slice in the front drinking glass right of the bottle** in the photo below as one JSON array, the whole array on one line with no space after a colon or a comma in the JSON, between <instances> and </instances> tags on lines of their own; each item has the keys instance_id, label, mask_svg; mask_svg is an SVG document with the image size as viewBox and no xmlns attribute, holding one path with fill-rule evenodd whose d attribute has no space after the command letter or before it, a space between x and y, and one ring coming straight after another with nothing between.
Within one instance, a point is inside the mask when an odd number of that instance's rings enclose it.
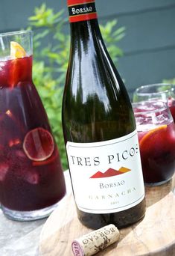
<instances>
[{"instance_id":1,"label":"orange slice in the front drinking glass right of the bottle","mask_svg":"<svg viewBox=\"0 0 175 256\"><path fill-rule=\"evenodd\" d=\"M151 129L149 132L147 132L143 138L141 138L140 141L140 147L143 147L144 144L147 144L147 139L152 139L154 140L155 136L159 136L162 132L165 132L165 130L167 129L167 125L162 125L161 127L157 127L155 129Z\"/></svg>"}]
</instances>

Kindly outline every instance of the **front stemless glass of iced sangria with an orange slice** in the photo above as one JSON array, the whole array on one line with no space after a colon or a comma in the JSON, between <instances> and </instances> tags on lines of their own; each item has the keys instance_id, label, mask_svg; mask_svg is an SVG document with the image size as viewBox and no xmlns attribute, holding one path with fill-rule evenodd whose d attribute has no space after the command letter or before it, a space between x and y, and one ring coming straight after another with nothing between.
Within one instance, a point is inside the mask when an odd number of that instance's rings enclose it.
<instances>
[{"instance_id":1,"label":"front stemless glass of iced sangria with an orange slice","mask_svg":"<svg viewBox=\"0 0 175 256\"><path fill-rule=\"evenodd\" d=\"M166 103L133 103L144 183L160 185L174 175L175 124Z\"/></svg>"}]
</instances>

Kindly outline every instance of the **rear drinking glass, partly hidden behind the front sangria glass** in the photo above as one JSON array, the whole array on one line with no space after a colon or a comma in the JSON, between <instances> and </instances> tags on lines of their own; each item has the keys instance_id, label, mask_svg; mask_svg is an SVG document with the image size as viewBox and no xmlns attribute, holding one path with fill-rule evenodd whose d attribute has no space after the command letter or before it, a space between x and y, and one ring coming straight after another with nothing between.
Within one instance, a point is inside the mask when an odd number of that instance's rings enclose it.
<instances>
[{"instance_id":1,"label":"rear drinking glass, partly hidden behind the front sangria glass","mask_svg":"<svg viewBox=\"0 0 175 256\"><path fill-rule=\"evenodd\" d=\"M171 115L175 121L175 85L153 84L142 85L133 93L133 102L147 100L162 100L168 103Z\"/></svg>"}]
</instances>

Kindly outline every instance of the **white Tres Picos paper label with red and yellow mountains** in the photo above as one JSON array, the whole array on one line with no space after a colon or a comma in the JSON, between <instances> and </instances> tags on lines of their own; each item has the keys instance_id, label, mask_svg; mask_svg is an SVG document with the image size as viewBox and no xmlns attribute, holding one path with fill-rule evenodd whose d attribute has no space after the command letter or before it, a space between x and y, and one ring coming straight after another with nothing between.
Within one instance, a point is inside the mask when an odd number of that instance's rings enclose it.
<instances>
[{"instance_id":1,"label":"white Tres Picos paper label with red and yellow mountains","mask_svg":"<svg viewBox=\"0 0 175 256\"><path fill-rule=\"evenodd\" d=\"M109 141L67 142L77 207L86 213L116 213L144 198L136 130Z\"/></svg>"}]
</instances>

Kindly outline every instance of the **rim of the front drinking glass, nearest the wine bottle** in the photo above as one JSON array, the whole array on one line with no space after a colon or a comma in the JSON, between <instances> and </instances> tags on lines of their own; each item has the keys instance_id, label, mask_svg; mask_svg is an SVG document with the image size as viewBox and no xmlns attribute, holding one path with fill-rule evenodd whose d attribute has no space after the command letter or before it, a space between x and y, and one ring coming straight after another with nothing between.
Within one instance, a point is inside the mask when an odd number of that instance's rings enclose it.
<instances>
[{"instance_id":1,"label":"rim of the front drinking glass, nearest the wine bottle","mask_svg":"<svg viewBox=\"0 0 175 256\"><path fill-rule=\"evenodd\" d=\"M159 105L159 109L145 109L145 111L134 111L134 106L147 106L145 103L161 103L161 105ZM133 107L133 112L134 112L134 115L150 115L150 114L153 114L153 113L156 113L156 112L162 112L163 110L168 110L168 104L165 103L164 101L162 100L144 100L144 101L139 101L139 102L136 102L136 103L132 103L132 107Z\"/></svg>"}]
</instances>

